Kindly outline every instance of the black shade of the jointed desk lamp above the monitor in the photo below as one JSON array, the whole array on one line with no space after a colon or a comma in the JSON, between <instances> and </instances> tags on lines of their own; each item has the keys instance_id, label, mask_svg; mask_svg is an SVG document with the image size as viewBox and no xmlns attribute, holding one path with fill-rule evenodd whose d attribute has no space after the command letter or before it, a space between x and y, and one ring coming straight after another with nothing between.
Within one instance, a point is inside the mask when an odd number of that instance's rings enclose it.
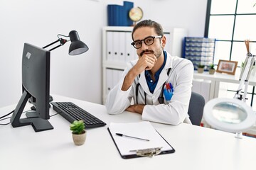
<instances>
[{"instance_id":1,"label":"black shade of the jointed desk lamp above the monitor","mask_svg":"<svg viewBox=\"0 0 256 170\"><path fill-rule=\"evenodd\" d=\"M80 55L89 50L87 45L85 45L85 43L80 40L78 32L76 30L71 30L69 33L69 37L71 41L68 51L69 55Z\"/></svg>"}]
</instances>

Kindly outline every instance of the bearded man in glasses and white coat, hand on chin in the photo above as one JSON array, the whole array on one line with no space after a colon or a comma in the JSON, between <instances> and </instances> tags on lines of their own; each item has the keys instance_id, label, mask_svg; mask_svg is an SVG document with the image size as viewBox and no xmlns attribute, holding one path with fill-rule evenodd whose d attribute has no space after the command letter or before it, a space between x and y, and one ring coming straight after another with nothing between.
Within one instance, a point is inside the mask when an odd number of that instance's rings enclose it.
<instances>
[{"instance_id":1,"label":"bearded man in glasses and white coat, hand on chin","mask_svg":"<svg viewBox=\"0 0 256 170\"><path fill-rule=\"evenodd\" d=\"M130 111L142 114L143 120L157 123L191 123L187 112L192 62L164 51L166 37L155 21L137 23L132 40L139 59L129 62L123 78L108 94L107 113Z\"/></svg>"}]
</instances>

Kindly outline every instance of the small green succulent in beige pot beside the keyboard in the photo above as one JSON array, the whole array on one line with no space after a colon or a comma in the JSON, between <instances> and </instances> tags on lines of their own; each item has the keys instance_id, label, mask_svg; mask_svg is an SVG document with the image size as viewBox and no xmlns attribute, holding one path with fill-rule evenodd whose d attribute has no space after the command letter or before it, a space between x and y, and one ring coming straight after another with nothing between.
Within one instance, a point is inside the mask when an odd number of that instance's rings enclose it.
<instances>
[{"instance_id":1,"label":"small green succulent in beige pot beside the keyboard","mask_svg":"<svg viewBox=\"0 0 256 170\"><path fill-rule=\"evenodd\" d=\"M75 145L83 145L86 139L85 123L82 120L75 120L70 125L72 131L72 137Z\"/></svg>"}]
</instances>

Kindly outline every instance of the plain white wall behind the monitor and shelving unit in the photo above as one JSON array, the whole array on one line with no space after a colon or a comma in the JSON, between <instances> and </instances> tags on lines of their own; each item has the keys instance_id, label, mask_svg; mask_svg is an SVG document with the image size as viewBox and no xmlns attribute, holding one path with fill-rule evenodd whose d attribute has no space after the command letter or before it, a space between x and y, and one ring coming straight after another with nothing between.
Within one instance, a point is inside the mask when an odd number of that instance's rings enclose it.
<instances>
[{"instance_id":1,"label":"plain white wall behind the monitor and shelving unit","mask_svg":"<svg viewBox=\"0 0 256 170\"><path fill-rule=\"evenodd\" d=\"M131 0L132 1L132 0ZM203 36L207 0L134 0L144 18L163 26L187 28ZM21 97L23 43L38 47L57 40L58 34L77 30L89 51L69 56L67 42L51 52L50 93L101 103L102 26L107 26L107 4L121 0L1 0L0 107Z\"/></svg>"}]
</instances>

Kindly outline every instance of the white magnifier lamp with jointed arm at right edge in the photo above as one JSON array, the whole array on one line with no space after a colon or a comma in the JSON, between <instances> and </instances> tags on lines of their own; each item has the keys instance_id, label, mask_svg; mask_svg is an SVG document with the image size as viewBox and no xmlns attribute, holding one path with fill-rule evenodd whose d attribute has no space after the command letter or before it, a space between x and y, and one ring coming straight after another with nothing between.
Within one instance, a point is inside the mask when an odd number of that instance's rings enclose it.
<instances>
[{"instance_id":1,"label":"white magnifier lamp with jointed arm at right edge","mask_svg":"<svg viewBox=\"0 0 256 170\"><path fill-rule=\"evenodd\" d=\"M255 62L255 55L249 50L249 40L245 40L247 57L245 67L240 74L240 84L234 98L214 98L208 101L203 109L206 122L213 128L226 132L234 132L235 137L242 138L242 131L255 124L256 116L250 106L245 103L250 72ZM245 85L244 94L241 94Z\"/></svg>"}]
</instances>

